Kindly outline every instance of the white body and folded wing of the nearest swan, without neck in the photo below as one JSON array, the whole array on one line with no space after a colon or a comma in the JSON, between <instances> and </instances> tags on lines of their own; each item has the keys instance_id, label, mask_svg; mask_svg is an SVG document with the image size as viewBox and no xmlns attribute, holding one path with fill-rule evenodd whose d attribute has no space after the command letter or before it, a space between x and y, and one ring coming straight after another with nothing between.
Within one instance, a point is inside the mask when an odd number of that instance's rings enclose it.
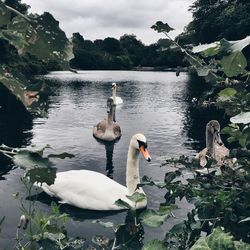
<instances>
[{"instance_id":1,"label":"white body and folded wing of the nearest swan, without neck","mask_svg":"<svg viewBox=\"0 0 250 250\"><path fill-rule=\"evenodd\" d=\"M89 170L71 170L57 174L51 186L42 185L50 196L63 203L91 210L120 210L114 205L118 199L126 199L127 188L107 176Z\"/></svg>"}]
</instances>

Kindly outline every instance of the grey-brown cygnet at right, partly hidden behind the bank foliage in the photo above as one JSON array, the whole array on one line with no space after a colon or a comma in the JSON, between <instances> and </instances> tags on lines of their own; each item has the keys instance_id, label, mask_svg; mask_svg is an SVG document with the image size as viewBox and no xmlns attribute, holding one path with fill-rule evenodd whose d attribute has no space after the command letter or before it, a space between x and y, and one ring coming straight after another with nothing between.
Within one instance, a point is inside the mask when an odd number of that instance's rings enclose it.
<instances>
[{"instance_id":1,"label":"grey-brown cygnet at right, partly hidden behind the bank foliage","mask_svg":"<svg viewBox=\"0 0 250 250\"><path fill-rule=\"evenodd\" d=\"M211 120L207 123L206 148L196 156L202 167L205 167L207 164L206 156L214 158L218 165L221 165L224 158L229 156L229 149L223 145L220 138L220 123L216 120Z\"/></svg>"}]
</instances>

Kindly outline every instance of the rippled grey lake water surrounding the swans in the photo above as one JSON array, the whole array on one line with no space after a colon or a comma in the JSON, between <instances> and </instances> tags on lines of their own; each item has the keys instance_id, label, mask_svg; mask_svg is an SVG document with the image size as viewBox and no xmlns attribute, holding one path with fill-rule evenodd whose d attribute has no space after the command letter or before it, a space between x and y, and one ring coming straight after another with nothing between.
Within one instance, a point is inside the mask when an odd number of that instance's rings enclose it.
<instances>
[{"instance_id":1,"label":"rippled grey lake water surrounding the swans","mask_svg":"<svg viewBox=\"0 0 250 250\"><path fill-rule=\"evenodd\" d=\"M53 72L45 76L44 81L60 85L49 99L48 117L32 118L20 115L18 108L9 107L6 111L1 107L0 143L14 147L49 144L53 152L74 154L74 158L55 161L58 171L89 169L125 184L129 141L133 134L141 132L147 137L152 161L140 159L140 174L164 180L167 169L160 167L162 157L194 156L204 147L205 124L220 117L219 113L194 110L191 99L199 94L201 84L187 73L176 77L173 72ZM117 96L124 101L116 113L122 137L114 145L104 145L93 138L92 129L107 116L106 101L111 96L112 82L117 83ZM19 192L20 196L27 197L20 181L22 174L23 170L0 157L0 218L6 216L0 233L0 249L13 248L20 211L19 202L12 194ZM164 202L163 190L154 187L144 190L149 208L158 208ZM50 212L50 202L51 199L42 194L36 203L39 210ZM190 208L183 200L175 215L181 220ZM114 237L111 230L93 224L92 220L124 223L127 215L127 212L93 212L66 205L61 211L70 216L69 235L86 237L88 241L98 234ZM176 222L178 220L170 219L161 228L144 228L144 240L164 238L165 230Z\"/></svg>"}]
</instances>

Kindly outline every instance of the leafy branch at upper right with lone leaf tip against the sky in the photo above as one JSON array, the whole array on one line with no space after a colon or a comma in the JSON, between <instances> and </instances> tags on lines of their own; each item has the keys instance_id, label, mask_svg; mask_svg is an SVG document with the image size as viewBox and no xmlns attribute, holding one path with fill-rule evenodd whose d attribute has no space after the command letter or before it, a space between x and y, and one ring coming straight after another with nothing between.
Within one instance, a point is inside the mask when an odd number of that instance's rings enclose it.
<instances>
[{"instance_id":1,"label":"leafy branch at upper right with lone leaf tip against the sky","mask_svg":"<svg viewBox=\"0 0 250 250\"><path fill-rule=\"evenodd\" d=\"M211 85L211 89L199 98L199 106L215 105L230 116L249 111L250 95L246 88L250 72L242 51L249 46L250 36L238 41L221 39L190 48L190 45L179 45L170 37L169 32L173 29L167 23L158 21L151 28L166 35L173 46L183 51L191 68Z\"/></svg>"}]
</instances>

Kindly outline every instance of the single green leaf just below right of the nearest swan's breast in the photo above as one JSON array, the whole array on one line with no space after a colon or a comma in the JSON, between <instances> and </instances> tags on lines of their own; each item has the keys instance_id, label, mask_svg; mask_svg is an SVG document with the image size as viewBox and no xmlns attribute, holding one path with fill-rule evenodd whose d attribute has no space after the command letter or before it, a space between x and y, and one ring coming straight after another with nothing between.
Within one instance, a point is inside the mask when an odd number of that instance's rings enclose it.
<instances>
[{"instance_id":1,"label":"single green leaf just below right of the nearest swan's breast","mask_svg":"<svg viewBox=\"0 0 250 250\"><path fill-rule=\"evenodd\" d=\"M169 214L161 214L152 209L142 212L140 218L142 223L149 227L159 227L164 223Z\"/></svg>"}]
</instances>

